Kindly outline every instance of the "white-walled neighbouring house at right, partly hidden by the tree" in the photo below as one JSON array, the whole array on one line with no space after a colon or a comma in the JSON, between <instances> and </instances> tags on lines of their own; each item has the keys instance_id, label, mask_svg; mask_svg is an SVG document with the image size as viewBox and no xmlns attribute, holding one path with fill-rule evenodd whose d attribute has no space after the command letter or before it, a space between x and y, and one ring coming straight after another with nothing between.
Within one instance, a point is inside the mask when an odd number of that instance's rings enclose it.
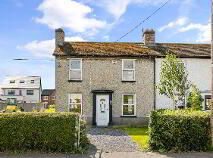
<instances>
[{"instance_id":1,"label":"white-walled neighbouring house at right, partly hidden by the tree","mask_svg":"<svg viewBox=\"0 0 213 158\"><path fill-rule=\"evenodd\" d=\"M167 50L177 54L188 72L188 80L196 85L204 99L203 110L209 110L211 98L211 46L210 44L164 44ZM162 50L159 50L162 51ZM155 58L155 82L160 81L160 64L163 58ZM174 108L171 99L156 90L156 109Z\"/></svg>"}]
</instances>

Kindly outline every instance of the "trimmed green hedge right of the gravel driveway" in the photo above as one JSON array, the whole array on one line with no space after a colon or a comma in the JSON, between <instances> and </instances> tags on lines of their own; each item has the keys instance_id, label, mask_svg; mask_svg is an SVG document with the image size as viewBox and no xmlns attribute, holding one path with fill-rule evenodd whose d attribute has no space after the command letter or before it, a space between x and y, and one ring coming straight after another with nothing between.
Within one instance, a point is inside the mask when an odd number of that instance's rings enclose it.
<instances>
[{"instance_id":1,"label":"trimmed green hedge right of the gravel driveway","mask_svg":"<svg viewBox=\"0 0 213 158\"><path fill-rule=\"evenodd\" d=\"M210 129L208 112L152 111L149 148L153 151L205 151L211 146Z\"/></svg>"}]
</instances>

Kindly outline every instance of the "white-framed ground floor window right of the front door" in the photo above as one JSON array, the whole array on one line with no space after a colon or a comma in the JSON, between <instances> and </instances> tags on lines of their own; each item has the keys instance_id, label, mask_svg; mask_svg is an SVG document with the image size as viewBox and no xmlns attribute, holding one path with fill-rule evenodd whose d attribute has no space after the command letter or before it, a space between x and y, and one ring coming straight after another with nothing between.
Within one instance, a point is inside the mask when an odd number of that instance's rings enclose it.
<instances>
[{"instance_id":1,"label":"white-framed ground floor window right of the front door","mask_svg":"<svg viewBox=\"0 0 213 158\"><path fill-rule=\"evenodd\" d=\"M124 94L122 97L122 115L135 116L136 115L136 95Z\"/></svg>"}]
</instances>

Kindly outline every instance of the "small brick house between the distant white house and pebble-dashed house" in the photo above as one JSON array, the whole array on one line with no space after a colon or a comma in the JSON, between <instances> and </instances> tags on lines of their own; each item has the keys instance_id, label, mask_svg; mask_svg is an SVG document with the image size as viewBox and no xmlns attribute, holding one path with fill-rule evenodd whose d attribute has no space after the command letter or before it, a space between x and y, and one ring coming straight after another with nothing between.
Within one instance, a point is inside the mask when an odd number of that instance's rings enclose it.
<instances>
[{"instance_id":1,"label":"small brick house between the distant white house and pebble-dashed house","mask_svg":"<svg viewBox=\"0 0 213 158\"><path fill-rule=\"evenodd\" d=\"M48 105L55 104L55 89L43 89L41 94L41 102L48 107Z\"/></svg>"}]
</instances>

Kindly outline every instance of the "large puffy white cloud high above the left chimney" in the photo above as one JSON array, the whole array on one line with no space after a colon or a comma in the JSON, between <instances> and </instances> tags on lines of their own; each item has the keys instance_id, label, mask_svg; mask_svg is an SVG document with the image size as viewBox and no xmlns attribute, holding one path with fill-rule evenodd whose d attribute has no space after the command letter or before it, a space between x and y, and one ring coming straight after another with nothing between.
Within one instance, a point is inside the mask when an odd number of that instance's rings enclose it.
<instances>
[{"instance_id":1,"label":"large puffy white cloud high above the left chimney","mask_svg":"<svg viewBox=\"0 0 213 158\"><path fill-rule=\"evenodd\" d=\"M106 21L89 17L92 8L73 0L44 0L37 9L43 16L34 20L52 29L63 27L77 33L96 33L107 26Z\"/></svg>"}]
</instances>

